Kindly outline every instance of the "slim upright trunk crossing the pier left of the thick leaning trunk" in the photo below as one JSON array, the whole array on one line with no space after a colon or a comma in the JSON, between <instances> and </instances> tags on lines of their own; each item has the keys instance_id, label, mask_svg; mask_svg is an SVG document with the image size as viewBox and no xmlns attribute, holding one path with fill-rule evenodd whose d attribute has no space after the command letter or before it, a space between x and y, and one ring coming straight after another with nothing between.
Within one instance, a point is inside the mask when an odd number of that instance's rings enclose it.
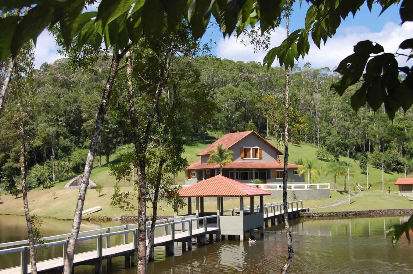
<instances>
[{"instance_id":1,"label":"slim upright trunk crossing the pier left of the thick leaning trunk","mask_svg":"<svg viewBox=\"0 0 413 274\"><path fill-rule=\"evenodd\" d=\"M21 118L20 118L21 119ZM30 248L30 264L31 273L37 273L36 267L36 248L34 242L33 226L31 225L30 212L28 209L28 199L27 199L27 183L26 183L26 170L24 169L24 164L26 160L24 159L24 125L23 121L20 121L20 171L21 171L21 191L23 192L23 205L24 205L24 215L26 216L27 232L28 232L28 244Z\"/></svg>"}]
</instances>

